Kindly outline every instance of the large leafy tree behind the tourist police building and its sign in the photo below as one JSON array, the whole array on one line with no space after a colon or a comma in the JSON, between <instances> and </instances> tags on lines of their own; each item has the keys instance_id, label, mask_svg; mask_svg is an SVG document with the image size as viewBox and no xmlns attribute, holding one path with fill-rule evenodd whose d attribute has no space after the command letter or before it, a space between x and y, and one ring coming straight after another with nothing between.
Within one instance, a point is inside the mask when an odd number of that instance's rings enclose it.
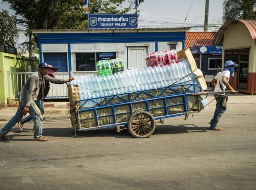
<instances>
[{"instance_id":1,"label":"large leafy tree behind the tourist police building and its sign","mask_svg":"<svg viewBox=\"0 0 256 190\"><path fill-rule=\"evenodd\" d=\"M40 29L86 29L87 14L81 0L4 0L11 4L16 14L24 19L29 30ZM126 13L130 9L122 8L124 0L90 0L90 13ZM144 2L144 0L140 0ZM38 36L33 34L38 45Z\"/></svg>"}]
</instances>

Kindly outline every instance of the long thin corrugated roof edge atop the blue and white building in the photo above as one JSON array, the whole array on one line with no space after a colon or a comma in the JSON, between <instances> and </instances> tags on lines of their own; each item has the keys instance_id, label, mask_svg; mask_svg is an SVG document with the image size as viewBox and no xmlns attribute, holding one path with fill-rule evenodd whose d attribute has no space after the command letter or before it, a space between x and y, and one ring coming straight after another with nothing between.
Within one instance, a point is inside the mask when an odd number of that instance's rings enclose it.
<instances>
[{"instance_id":1,"label":"long thin corrugated roof edge atop the blue and white building","mask_svg":"<svg viewBox=\"0 0 256 190\"><path fill-rule=\"evenodd\" d=\"M147 30L156 30L156 31L167 31L167 30L183 30L183 31L188 31L191 27L176 27L176 28L113 28L113 29L110 29L110 28L102 28L102 29L44 29L44 30L32 30L32 33L33 34L38 34L38 33L51 33L51 32L55 32L55 33L58 33L58 32L61 32L61 33L64 33L64 32L78 32L78 33L81 33L81 32L86 32L86 33L89 33L91 31L147 31Z\"/></svg>"}]
</instances>

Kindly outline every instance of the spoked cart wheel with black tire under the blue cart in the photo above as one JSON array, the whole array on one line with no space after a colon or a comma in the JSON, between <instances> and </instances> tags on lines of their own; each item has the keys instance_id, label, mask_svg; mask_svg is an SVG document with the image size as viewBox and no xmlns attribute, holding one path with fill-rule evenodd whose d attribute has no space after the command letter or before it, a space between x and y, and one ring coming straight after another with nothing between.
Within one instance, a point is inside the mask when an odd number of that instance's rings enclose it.
<instances>
[{"instance_id":1,"label":"spoked cart wheel with black tire under the blue cart","mask_svg":"<svg viewBox=\"0 0 256 190\"><path fill-rule=\"evenodd\" d=\"M156 121L147 111L136 111L128 120L129 133L136 138L146 138L154 133Z\"/></svg>"}]
</instances>

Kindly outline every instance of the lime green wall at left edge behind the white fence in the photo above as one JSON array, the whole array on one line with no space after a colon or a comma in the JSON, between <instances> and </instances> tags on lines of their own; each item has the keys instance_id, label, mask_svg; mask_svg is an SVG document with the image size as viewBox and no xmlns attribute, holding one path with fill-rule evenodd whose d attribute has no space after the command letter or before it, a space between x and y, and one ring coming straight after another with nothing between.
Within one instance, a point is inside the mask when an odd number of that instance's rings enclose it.
<instances>
[{"instance_id":1,"label":"lime green wall at left edge behind the white fence","mask_svg":"<svg viewBox=\"0 0 256 190\"><path fill-rule=\"evenodd\" d=\"M8 71L10 72L26 72L28 71L28 65L38 65L38 59L30 59L28 57L18 56L10 53L0 52L0 107L5 107L8 98ZM26 68L26 69L25 69ZM27 75L28 78L28 75ZM26 78L26 79L27 79ZM26 79L22 79L22 84L19 83L19 89L21 85L26 82ZM11 78L11 98L17 97L17 79ZM13 86L16 90L13 89Z\"/></svg>"}]
</instances>

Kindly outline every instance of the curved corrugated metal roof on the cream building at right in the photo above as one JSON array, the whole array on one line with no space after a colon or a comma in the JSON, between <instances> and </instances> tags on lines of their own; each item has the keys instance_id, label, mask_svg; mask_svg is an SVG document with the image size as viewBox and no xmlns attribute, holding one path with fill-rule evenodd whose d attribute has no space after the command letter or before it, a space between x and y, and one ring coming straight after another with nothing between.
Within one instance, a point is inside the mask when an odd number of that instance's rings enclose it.
<instances>
[{"instance_id":1,"label":"curved corrugated metal roof on the cream building at right","mask_svg":"<svg viewBox=\"0 0 256 190\"><path fill-rule=\"evenodd\" d=\"M213 44L215 44L215 45L222 44L224 32L232 24L236 24L238 22L241 22L242 24L244 24L244 26L247 28L248 32L250 33L250 36L252 39L256 39L256 20L234 19L234 20L228 20L220 27L220 29L218 30L218 32L213 40Z\"/></svg>"}]
</instances>

